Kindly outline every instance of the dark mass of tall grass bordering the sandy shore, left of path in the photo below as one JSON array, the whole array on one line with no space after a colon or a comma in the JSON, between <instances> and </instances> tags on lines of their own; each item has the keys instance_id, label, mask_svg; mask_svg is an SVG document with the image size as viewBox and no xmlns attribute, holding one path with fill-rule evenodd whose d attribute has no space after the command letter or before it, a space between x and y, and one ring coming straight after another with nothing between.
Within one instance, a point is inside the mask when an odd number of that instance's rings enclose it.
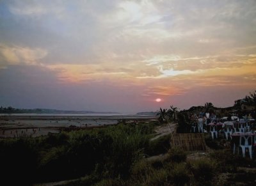
<instances>
[{"instance_id":1,"label":"dark mass of tall grass bordering the sandy shore, left of path","mask_svg":"<svg viewBox=\"0 0 256 186\"><path fill-rule=\"evenodd\" d=\"M127 178L145 154L154 123L115 125L92 130L0 140L3 177L25 185L79 178ZM28 171L24 171L28 169ZM14 178L14 179L13 179ZM9 180L10 182L12 180ZM96 182L96 181L95 181Z\"/></svg>"}]
</instances>

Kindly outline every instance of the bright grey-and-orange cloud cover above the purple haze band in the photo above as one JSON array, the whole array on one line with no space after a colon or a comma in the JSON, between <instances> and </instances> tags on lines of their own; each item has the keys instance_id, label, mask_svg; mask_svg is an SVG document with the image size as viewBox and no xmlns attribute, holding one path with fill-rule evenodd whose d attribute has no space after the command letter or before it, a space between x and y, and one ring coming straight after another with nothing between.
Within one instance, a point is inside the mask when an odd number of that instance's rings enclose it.
<instances>
[{"instance_id":1,"label":"bright grey-and-orange cloud cover above the purple haze band","mask_svg":"<svg viewBox=\"0 0 256 186\"><path fill-rule=\"evenodd\" d=\"M1 1L0 7L2 72L44 67L61 84L109 82L123 92L136 87L148 100L196 88L255 87L254 0Z\"/></svg>"}]
</instances>

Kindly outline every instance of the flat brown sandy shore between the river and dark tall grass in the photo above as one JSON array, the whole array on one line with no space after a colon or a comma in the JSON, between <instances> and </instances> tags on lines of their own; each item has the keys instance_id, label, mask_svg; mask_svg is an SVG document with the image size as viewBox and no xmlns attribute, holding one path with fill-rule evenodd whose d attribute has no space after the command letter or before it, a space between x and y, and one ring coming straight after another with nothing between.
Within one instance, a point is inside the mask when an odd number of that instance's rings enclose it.
<instances>
[{"instance_id":1,"label":"flat brown sandy shore between the river and dark tall grass","mask_svg":"<svg viewBox=\"0 0 256 186\"><path fill-rule=\"evenodd\" d=\"M42 136L49 132L75 130L79 128L104 127L116 125L118 121L140 123L156 120L155 116L0 116L0 137Z\"/></svg>"}]
</instances>

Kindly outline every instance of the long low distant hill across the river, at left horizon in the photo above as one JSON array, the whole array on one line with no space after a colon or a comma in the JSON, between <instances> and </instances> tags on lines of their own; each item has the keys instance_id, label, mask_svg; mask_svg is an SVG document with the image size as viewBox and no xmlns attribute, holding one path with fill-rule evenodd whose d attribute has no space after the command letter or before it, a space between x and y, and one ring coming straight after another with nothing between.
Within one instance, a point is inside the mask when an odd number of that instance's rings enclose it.
<instances>
[{"instance_id":1,"label":"long low distant hill across the river, at left horizon","mask_svg":"<svg viewBox=\"0 0 256 186\"><path fill-rule=\"evenodd\" d=\"M56 109L15 109L13 107L0 107L0 113L33 113L33 114L118 114L118 112L94 112L94 111L62 111Z\"/></svg>"}]
</instances>

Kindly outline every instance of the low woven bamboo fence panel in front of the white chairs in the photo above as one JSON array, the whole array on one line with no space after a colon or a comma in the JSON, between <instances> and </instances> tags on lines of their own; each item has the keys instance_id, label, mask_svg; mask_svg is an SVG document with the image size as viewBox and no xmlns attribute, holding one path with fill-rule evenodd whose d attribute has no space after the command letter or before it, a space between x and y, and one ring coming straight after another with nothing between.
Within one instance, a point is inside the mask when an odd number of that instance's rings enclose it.
<instances>
[{"instance_id":1,"label":"low woven bamboo fence panel in front of the white chairs","mask_svg":"<svg viewBox=\"0 0 256 186\"><path fill-rule=\"evenodd\" d=\"M174 134L172 146L177 146L185 151L206 150L204 134Z\"/></svg>"}]
</instances>

